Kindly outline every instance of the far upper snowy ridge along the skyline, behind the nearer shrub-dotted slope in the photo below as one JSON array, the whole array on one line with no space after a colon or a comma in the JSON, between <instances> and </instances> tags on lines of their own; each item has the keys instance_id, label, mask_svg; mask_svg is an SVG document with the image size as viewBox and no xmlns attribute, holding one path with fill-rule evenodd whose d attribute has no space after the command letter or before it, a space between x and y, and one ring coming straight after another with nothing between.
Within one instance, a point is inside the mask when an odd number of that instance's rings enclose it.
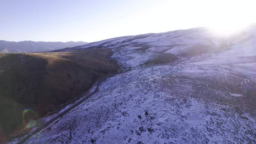
<instances>
[{"instance_id":1,"label":"far upper snowy ridge along the skyline, behind the nearer shrub-dotted slope","mask_svg":"<svg viewBox=\"0 0 256 144\"><path fill-rule=\"evenodd\" d=\"M113 58L119 59L124 66L134 67L163 52L173 53L181 59L192 58L192 62L203 60L205 64L253 62L255 46L256 26L252 25L229 36L218 36L207 28L192 28L117 37L65 50L112 48ZM243 58L244 56L248 56L248 59Z\"/></svg>"}]
</instances>

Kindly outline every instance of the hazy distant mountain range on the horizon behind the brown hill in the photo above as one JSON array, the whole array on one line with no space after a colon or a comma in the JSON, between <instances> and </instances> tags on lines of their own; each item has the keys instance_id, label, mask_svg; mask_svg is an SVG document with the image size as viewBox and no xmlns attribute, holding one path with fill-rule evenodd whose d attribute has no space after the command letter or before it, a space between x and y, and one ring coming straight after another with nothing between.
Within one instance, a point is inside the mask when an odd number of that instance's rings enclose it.
<instances>
[{"instance_id":1,"label":"hazy distant mountain range on the horizon behind the brown hill","mask_svg":"<svg viewBox=\"0 0 256 144\"><path fill-rule=\"evenodd\" d=\"M87 42L9 42L0 40L0 52L3 53L20 53L20 52L45 52L74 46L85 45Z\"/></svg>"}]
</instances>

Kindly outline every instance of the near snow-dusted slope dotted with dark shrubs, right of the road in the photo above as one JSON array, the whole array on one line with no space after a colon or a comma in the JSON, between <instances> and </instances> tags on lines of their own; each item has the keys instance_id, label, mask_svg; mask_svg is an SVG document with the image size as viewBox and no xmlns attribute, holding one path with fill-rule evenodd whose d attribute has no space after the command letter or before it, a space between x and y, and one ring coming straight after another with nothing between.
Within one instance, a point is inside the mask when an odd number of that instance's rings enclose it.
<instances>
[{"instance_id":1,"label":"near snow-dusted slope dotted with dark shrubs, right of the road","mask_svg":"<svg viewBox=\"0 0 256 144\"><path fill-rule=\"evenodd\" d=\"M236 70L161 65L118 74L27 144L255 143L255 102L237 96L245 88ZM255 74L242 72L255 87Z\"/></svg>"}]
</instances>

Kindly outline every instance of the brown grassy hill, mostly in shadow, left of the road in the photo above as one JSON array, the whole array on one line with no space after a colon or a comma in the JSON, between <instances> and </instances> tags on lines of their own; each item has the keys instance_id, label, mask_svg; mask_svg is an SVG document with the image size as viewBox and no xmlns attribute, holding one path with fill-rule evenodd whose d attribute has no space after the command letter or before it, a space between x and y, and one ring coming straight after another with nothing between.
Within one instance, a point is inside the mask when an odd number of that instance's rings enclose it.
<instances>
[{"instance_id":1,"label":"brown grassy hill, mostly in shadow, left of the road","mask_svg":"<svg viewBox=\"0 0 256 144\"><path fill-rule=\"evenodd\" d=\"M0 126L6 137L24 127L22 111L39 117L115 73L110 49L0 54Z\"/></svg>"}]
</instances>

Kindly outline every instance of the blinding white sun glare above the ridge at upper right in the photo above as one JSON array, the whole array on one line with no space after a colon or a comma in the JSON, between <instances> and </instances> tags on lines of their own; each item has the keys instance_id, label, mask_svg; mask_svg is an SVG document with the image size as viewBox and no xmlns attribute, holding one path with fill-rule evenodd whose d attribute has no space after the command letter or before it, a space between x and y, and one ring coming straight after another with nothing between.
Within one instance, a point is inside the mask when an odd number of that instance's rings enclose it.
<instances>
[{"instance_id":1,"label":"blinding white sun glare above the ridge at upper right","mask_svg":"<svg viewBox=\"0 0 256 144\"><path fill-rule=\"evenodd\" d=\"M227 36L237 33L255 22L253 1L214 1L202 14L207 21L206 27L214 34ZM213 7L213 8L212 8Z\"/></svg>"}]
</instances>

